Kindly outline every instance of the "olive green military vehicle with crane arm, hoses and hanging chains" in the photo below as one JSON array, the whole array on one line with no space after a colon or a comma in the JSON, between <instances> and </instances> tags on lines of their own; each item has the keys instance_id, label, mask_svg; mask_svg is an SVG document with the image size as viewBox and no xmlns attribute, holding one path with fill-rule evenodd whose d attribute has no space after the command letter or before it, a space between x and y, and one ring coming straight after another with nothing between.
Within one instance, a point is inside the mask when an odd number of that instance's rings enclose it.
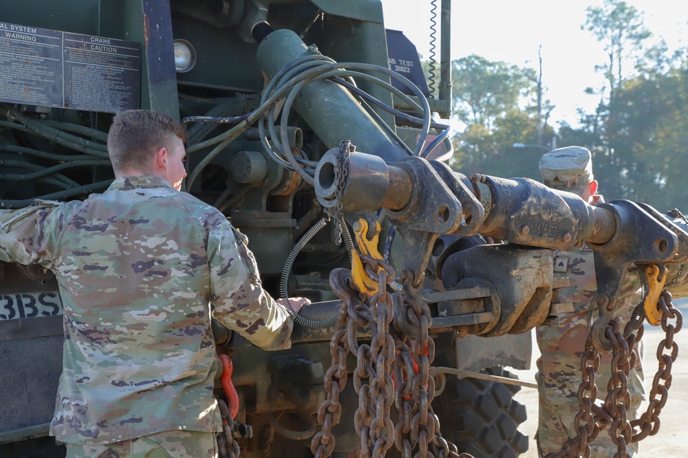
<instances>
[{"instance_id":1,"label":"olive green military vehicle with crane arm, hoses and hanging chains","mask_svg":"<svg viewBox=\"0 0 688 458\"><path fill-rule=\"evenodd\" d=\"M649 207L449 169L451 1L427 8L426 80L378 0L0 0L0 208L105 190L112 113L168 113L189 133L186 191L248 236L273 297L313 301L290 350L213 328L231 361L217 396L237 411L224 456L448 456L449 441L516 457L526 411L495 376L530 362L563 286L551 250L599 249L612 296L627 262L688 258ZM63 457L47 437L54 275L0 264L0 279L0 456Z\"/></svg>"}]
</instances>

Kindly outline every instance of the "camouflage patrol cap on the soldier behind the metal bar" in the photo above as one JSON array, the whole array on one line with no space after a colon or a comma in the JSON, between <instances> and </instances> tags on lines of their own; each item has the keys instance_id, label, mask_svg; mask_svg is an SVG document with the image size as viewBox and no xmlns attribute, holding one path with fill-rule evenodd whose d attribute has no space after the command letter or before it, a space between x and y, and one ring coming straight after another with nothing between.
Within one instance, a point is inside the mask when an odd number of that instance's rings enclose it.
<instances>
[{"instance_id":1,"label":"camouflage patrol cap on the soldier behind the metal bar","mask_svg":"<svg viewBox=\"0 0 688 458\"><path fill-rule=\"evenodd\" d=\"M582 146L566 146L544 154L539 168L542 183L575 194L583 194L585 185L593 180L592 154Z\"/></svg>"}]
</instances>

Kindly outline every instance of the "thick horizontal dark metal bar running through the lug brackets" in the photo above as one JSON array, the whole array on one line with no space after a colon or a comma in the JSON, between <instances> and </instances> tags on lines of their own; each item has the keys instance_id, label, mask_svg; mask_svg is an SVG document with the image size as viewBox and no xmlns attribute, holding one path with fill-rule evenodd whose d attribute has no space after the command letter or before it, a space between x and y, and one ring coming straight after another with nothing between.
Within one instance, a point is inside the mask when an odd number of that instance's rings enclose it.
<instances>
[{"instance_id":1,"label":"thick horizontal dark metal bar running through the lug brackets","mask_svg":"<svg viewBox=\"0 0 688 458\"><path fill-rule=\"evenodd\" d=\"M339 183L334 170L337 160L337 151L330 150L316 170L316 194L326 207L332 207L336 199ZM419 161L422 159L413 158L413 161L388 165L370 154L352 153L341 195L342 208L398 211L409 207L414 196L436 193L436 187L446 190L447 183L413 180L409 170ZM462 174L454 175L460 183L468 183L471 197L477 198L484 208L484 219L474 225L472 233L542 248L570 250L582 242L595 245L610 242L619 225L618 211L609 206L594 207L575 194L552 190L537 181L485 175L476 175L469 181ZM454 195L465 207L465 199ZM476 222L465 220L465 211L462 217L463 225ZM462 234L467 235L465 231Z\"/></svg>"}]
</instances>

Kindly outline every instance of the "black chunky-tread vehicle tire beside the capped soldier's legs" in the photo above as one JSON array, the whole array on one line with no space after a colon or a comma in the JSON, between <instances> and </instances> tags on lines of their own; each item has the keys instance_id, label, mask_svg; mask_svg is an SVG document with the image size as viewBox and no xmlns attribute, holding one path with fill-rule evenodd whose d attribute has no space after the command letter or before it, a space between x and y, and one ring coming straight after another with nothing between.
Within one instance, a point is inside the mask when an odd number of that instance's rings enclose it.
<instances>
[{"instance_id":1,"label":"black chunky-tread vehicle tire beside the capped soldier's legs","mask_svg":"<svg viewBox=\"0 0 688 458\"><path fill-rule=\"evenodd\" d=\"M502 367L485 374L517 378ZM442 437L459 452L475 458L515 458L528 450L528 436L518 431L526 420L526 407L513 396L521 389L477 378L447 378L444 391L433 401Z\"/></svg>"}]
</instances>

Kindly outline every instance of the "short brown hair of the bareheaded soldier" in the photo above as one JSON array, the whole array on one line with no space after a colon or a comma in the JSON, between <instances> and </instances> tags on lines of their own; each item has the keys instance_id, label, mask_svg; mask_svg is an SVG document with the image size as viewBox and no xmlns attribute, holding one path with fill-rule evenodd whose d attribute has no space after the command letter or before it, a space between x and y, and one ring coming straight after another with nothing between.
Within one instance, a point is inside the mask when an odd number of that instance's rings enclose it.
<instances>
[{"instance_id":1,"label":"short brown hair of the bareheaded soldier","mask_svg":"<svg viewBox=\"0 0 688 458\"><path fill-rule=\"evenodd\" d=\"M160 148L171 153L186 130L176 119L149 110L117 113L107 134L107 152L114 170L147 170Z\"/></svg>"}]
</instances>

